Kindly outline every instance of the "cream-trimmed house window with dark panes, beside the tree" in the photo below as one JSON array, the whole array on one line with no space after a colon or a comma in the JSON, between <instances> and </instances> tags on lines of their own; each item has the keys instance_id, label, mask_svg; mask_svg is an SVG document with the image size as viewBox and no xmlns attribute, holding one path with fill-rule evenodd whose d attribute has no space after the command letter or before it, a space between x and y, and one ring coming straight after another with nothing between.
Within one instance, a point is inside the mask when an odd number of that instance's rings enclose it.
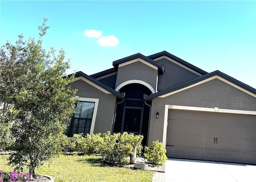
<instances>
[{"instance_id":1,"label":"cream-trimmed house window with dark panes, beside the tree","mask_svg":"<svg viewBox=\"0 0 256 182\"><path fill-rule=\"evenodd\" d=\"M79 98L76 103L76 112L68 122L67 135L72 137L75 133L92 134L97 108L98 99Z\"/></svg>"}]
</instances>

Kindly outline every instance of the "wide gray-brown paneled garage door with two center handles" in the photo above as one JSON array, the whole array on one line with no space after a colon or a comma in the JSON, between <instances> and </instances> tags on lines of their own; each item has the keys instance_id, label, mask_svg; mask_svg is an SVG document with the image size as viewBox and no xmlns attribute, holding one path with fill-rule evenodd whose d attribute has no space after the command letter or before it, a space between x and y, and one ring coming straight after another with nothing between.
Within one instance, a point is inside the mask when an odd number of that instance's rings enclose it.
<instances>
[{"instance_id":1,"label":"wide gray-brown paneled garage door with two center handles","mask_svg":"<svg viewBox=\"0 0 256 182\"><path fill-rule=\"evenodd\" d=\"M256 164L256 116L169 110L171 158Z\"/></svg>"}]
</instances>

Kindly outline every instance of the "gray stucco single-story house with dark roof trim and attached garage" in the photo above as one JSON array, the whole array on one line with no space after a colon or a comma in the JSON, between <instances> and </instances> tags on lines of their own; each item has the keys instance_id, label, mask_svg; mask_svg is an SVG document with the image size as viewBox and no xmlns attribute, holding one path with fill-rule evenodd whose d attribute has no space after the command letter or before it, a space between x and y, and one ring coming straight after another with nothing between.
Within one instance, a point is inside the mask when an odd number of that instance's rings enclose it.
<instances>
[{"instance_id":1,"label":"gray stucco single-story house with dark roof trim and attached garage","mask_svg":"<svg viewBox=\"0 0 256 182\"><path fill-rule=\"evenodd\" d=\"M256 164L256 89L166 52L140 53L71 84L80 102L74 133L132 132L167 156Z\"/></svg>"}]
</instances>

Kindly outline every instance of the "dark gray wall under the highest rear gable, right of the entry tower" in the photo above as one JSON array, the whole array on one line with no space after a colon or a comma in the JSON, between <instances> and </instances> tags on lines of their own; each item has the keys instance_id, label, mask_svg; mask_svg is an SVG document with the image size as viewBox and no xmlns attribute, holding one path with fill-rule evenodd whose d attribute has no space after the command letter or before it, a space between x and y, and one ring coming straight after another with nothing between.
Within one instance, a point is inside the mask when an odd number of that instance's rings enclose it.
<instances>
[{"instance_id":1,"label":"dark gray wall under the highest rear gable, right of the entry tower","mask_svg":"<svg viewBox=\"0 0 256 182\"><path fill-rule=\"evenodd\" d=\"M158 91L197 78L199 75L172 63L166 58L157 61L164 65L164 74L158 75Z\"/></svg>"}]
</instances>

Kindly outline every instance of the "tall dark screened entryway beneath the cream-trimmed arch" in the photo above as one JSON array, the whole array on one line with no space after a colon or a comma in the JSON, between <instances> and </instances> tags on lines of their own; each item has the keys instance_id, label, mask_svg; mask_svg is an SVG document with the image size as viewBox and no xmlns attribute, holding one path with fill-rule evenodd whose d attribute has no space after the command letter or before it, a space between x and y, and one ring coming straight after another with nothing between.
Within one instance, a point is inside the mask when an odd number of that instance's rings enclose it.
<instances>
[{"instance_id":1,"label":"tall dark screened entryway beneath the cream-trimmed arch","mask_svg":"<svg viewBox=\"0 0 256 182\"><path fill-rule=\"evenodd\" d=\"M143 95L150 95L152 92L138 83L123 86L119 91L125 92L125 98L116 100L113 133L128 132L143 135L143 145L146 145L152 102L147 101L145 104Z\"/></svg>"}]
</instances>

